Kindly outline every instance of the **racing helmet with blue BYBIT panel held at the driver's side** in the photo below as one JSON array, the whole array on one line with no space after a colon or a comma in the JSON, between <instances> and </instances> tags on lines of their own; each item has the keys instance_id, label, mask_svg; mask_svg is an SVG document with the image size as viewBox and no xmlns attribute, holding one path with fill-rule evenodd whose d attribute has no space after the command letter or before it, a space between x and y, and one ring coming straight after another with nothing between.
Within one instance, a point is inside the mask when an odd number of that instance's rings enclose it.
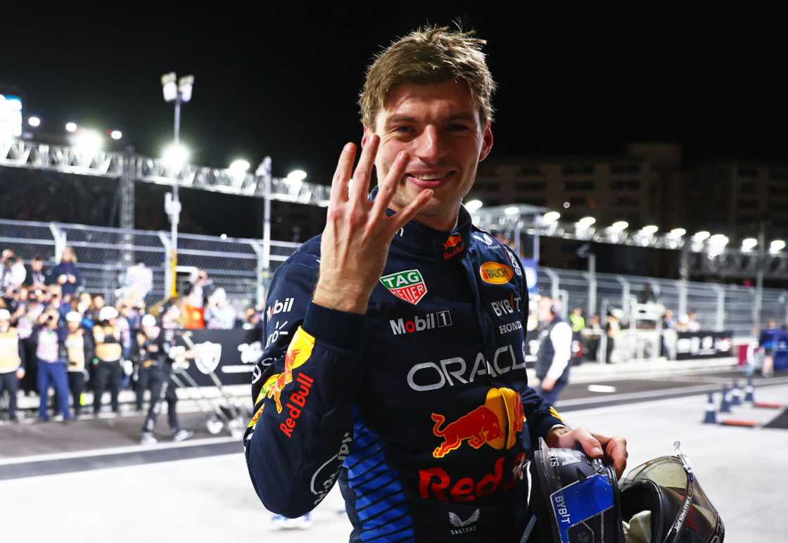
<instances>
[{"instance_id":1,"label":"racing helmet with blue BYBIT panel held at the driver's side","mask_svg":"<svg viewBox=\"0 0 788 543\"><path fill-rule=\"evenodd\" d=\"M725 527L678 450L616 482L599 459L567 448L530 462L533 517L522 541L547 543L722 543Z\"/></svg>"}]
</instances>

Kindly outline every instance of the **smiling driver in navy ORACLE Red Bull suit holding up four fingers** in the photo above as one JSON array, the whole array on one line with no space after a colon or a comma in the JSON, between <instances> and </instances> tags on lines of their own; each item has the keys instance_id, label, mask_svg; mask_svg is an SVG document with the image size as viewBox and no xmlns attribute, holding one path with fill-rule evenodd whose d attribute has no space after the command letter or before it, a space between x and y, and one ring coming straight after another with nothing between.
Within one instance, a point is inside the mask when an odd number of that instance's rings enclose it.
<instances>
[{"instance_id":1,"label":"smiling driver in navy ORACLE Red Bull suit holding up four fingers","mask_svg":"<svg viewBox=\"0 0 788 543\"><path fill-rule=\"evenodd\" d=\"M626 462L622 439L568 430L528 388L522 268L460 206L492 148L482 43L427 28L378 56L355 173L348 143L322 236L269 291L252 483L297 517L339 478L352 541L519 541L538 437Z\"/></svg>"}]
</instances>

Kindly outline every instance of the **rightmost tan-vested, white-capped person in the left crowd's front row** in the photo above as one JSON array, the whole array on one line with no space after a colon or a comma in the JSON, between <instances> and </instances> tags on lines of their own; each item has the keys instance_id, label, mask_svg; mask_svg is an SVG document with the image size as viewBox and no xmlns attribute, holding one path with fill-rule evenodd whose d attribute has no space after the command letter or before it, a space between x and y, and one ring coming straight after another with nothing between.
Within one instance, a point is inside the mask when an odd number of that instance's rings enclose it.
<instances>
[{"instance_id":1,"label":"rightmost tan-vested, white-capped person in the left crowd's front row","mask_svg":"<svg viewBox=\"0 0 788 543\"><path fill-rule=\"evenodd\" d=\"M110 401L113 413L120 411L117 395L121 389L121 330L117 328L117 310L114 307L103 307L99 312L99 322L93 326L95 340L95 357L99 359L95 370L95 386L93 388L93 413L101 411L102 396L106 385L110 385Z\"/></svg>"}]
</instances>

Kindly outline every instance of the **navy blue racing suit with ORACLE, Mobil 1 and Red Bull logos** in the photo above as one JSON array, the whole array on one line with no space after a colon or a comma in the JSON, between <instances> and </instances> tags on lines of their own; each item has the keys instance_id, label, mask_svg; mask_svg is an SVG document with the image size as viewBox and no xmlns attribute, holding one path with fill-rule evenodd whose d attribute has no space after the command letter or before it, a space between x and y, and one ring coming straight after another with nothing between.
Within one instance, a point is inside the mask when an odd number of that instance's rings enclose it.
<instances>
[{"instance_id":1,"label":"navy blue racing suit with ORACLE, Mobil 1 and Red Bull logos","mask_svg":"<svg viewBox=\"0 0 788 543\"><path fill-rule=\"evenodd\" d=\"M319 251L266 303L243 437L262 503L303 515L339 479L351 541L519 541L526 452L562 424L527 383L519 260L464 208L450 233L411 221L360 315L310 301Z\"/></svg>"}]
</instances>

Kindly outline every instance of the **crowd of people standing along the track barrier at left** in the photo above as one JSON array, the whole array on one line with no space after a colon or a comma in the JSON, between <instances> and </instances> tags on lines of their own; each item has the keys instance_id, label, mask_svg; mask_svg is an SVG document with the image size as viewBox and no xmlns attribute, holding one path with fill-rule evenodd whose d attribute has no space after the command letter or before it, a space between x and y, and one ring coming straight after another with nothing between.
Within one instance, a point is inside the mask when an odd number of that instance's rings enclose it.
<instances>
[{"instance_id":1,"label":"crowd of people standing along the track barrier at left","mask_svg":"<svg viewBox=\"0 0 788 543\"><path fill-rule=\"evenodd\" d=\"M17 392L39 396L38 422L69 421L106 409L117 415L121 389L134 389L136 408L143 411L145 392L151 391L146 425L152 430L154 400L172 404L169 422L173 435L184 438L175 415L177 396L167 387L166 345L177 329L255 328L262 320L255 307L242 318L223 289L213 288L203 270L191 278L184 296L148 308L151 274L143 264L131 266L115 303L100 293L86 292L76 255L65 247L57 265L46 269L43 258L28 263L6 249L0 262L0 400L8 392L8 418L18 422ZM163 332L163 333L162 333ZM163 343L162 343L163 341ZM54 394L50 395L50 391ZM92 406L85 392L93 392ZM147 442L151 442L147 430ZM143 441L146 441L143 429Z\"/></svg>"}]
</instances>

